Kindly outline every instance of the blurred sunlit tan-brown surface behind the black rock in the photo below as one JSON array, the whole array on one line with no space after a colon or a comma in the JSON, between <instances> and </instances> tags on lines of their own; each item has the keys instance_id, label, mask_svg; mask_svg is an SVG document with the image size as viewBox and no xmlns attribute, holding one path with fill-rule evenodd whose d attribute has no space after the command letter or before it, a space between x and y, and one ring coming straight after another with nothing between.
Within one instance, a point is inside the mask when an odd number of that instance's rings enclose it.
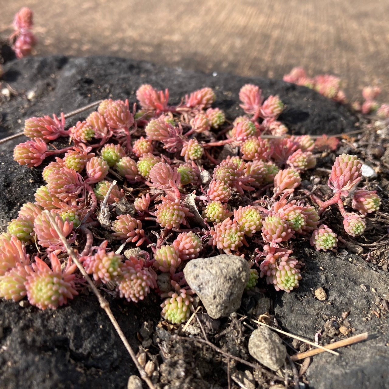
<instances>
[{"instance_id":1,"label":"blurred sunlit tan-brown surface behind the black rock","mask_svg":"<svg viewBox=\"0 0 389 389\"><path fill-rule=\"evenodd\" d=\"M388 100L389 2L354 0L0 0L0 35L34 12L37 55L110 55L204 72L282 79L331 73L348 100Z\"/></svg>"}]
</instances>

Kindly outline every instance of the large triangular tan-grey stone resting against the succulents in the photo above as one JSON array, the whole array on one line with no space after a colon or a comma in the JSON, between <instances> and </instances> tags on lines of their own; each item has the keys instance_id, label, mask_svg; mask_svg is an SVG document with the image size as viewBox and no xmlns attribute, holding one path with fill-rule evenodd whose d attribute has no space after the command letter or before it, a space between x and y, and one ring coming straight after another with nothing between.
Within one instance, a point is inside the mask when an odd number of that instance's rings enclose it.
<instances>
[{"instance_id":1,"label":"large triangular tan-grey stone resting against the succulents","mask_svg":"<svg viewBox=\"0 0 389 389\"><path fill-rule=\"evenodd\" d=\"M210 317L219 319L240 307L249 280L249 265L244 258L222 254L192 259L185 266L184 275Z\"/></svg>"}]
</instances>

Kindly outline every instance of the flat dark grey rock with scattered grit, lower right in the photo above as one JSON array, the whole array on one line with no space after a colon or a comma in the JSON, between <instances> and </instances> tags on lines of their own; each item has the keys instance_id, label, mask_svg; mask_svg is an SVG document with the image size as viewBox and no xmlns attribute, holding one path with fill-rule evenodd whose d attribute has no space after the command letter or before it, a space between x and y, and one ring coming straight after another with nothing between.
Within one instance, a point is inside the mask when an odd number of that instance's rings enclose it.
<instances>
[{"instance_id":1,"label":"flat dark grey rock with scattered grit, lower right","mask_svg":"<svg viewBox=\"0 0 389 389\"><path fill-rule=\"evenodd\" d=\"M279 323L310 340L321 331L323 343L343 339L341 326L355 329L349 336L370 334L366 342L338 349L340 356L327 352L315 356L307 370L310 385L315 389L389 388L389 312L380 304L389 295L388 273L353 254L306 249L300 259L306 264L300 287L277 293L273 301ZM326 290L326 301L315 298L318 287ZM349 316L342 319L348 311ZM380 318L373 311L381 312Z\"/></svg>"}]
</instances>

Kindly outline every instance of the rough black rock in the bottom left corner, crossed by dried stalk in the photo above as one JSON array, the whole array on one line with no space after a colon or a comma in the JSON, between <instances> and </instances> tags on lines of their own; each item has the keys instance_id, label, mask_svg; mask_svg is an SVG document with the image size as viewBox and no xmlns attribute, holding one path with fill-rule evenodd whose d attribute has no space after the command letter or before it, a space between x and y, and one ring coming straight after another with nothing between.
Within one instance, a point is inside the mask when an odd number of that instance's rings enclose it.
<instances>
[{"instance_id":1,"label":"rough black rock in the bottom left corner, crossed by dried stalk","mask_svg":"<svg viewBox=\"0 0 389 389\"><path fill-rule=\"evenodd\" d=\"M110 305L130 344L142 318L159 319L159 296L135 308L125 300ZM0 303L0 388L124 388L137 373L127 350L95 296L77 296L57 310Z\"/></svg>"}]
</instances>

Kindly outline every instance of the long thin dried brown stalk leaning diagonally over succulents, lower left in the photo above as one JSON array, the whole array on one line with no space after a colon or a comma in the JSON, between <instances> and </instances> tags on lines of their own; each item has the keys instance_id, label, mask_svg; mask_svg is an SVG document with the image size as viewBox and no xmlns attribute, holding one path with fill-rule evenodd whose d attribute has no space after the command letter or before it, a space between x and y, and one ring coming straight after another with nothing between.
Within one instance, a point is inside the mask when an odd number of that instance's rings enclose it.
<instances>
[{"instance_id":1,"label":"long thin dried brown stalk leaning diagonally over succulents, lower left","mask_svg":"<svg viewBox=\"0 0 389 389\"><path fill-rule=\"evenodd\" d=\"M79 260L77 258L77 255L75 254L75 252L72 249L72 247L70 247L70 245L68 244L68 242L67 242L66 238L64 237L62 231L58 227L58 224L55 222L54 217L47 210L45 210L43 212L44 212L45 216L50 220L51 225L54 227L54 230L56 231L56 233L60 237L61 242L65 246L66 251L68 252L69 257L72 258L74 263L79 268L81 274L83 275L83 277L85 277L85 279L87 280L89 286L92 288L93 293L95 293L95 295L96 295L96 297L97 297L97 299L98 299L98 301L100 303L100 307L103 308L103 310L105 310L105 313L108 315L112 325L116 329L117 334L120 336L120 339L122 340L124 346L126 347L126 349L128 351L128 354L130 354L131 359L135 363L135 366L137 366L137 369L139 371L140 377L146 382L147 386L150 389L155 389L154 385L152 384L152 382L151 382L150 378L148 377L147 373L142 368L142 366L140 366L140 363L138 362L138 359L137 359L137 357L135 355L135 352L131 348L130 343L128 343L128 340L127 340L126 336L124 335L122 329L120 328L119 323L116 321L114 315L112 314L112 311L111 311L111 309L109 307L109 302L107 300L105 300L105 298L103 298L103 296L98 291L98 289L96 288L96 286L93 283L93 281L90 279L89 275L86 273L86 271L84 269L84 266L82 266L81 263L79 262Z\"/></svg>"}]
</instances>

